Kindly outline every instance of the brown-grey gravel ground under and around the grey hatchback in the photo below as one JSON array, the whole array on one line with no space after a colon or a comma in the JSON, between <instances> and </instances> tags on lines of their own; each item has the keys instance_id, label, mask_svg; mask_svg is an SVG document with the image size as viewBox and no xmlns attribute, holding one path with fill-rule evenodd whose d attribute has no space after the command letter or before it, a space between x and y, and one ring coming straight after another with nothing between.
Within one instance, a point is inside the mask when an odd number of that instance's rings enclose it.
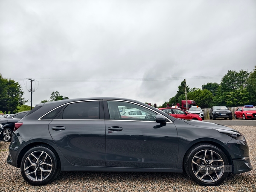
<instances>
[{"instance_id":1,"label":"brown-grey gravel ground under and around the grey hatchback","mask_svg":"<svg viewBox=\"0 0 256 192\"><path fill-rule=\"evenodd\" d=\"M256 192L256 126L230 126L244 134L250 148L253 170L230 174L220 186L199 186L185 173L131 173L131 172L61 172L45 186L32 186L23 179L20 169L6 163L9 142L0 142L0 191L254 191Z\"/></svg>"}]
</instances>

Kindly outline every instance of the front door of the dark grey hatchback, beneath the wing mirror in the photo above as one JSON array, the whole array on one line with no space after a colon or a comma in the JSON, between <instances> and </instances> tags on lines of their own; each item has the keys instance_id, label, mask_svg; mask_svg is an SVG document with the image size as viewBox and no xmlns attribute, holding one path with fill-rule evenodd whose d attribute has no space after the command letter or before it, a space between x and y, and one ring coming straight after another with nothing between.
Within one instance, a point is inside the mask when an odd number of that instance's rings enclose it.
<instances>
[{"instance_id":1,"label":"front door of the dark grey hatchback, beneath the wing mirror","mask_svg":"<svg viewBox=\"0 0 256 192\"><path fill-rule=\"evenodd\" d=\"M145 119L122 118L119 106L137 108ZM175 125L157 123L157 113L145 106L124 101L104 101L106 116L106 166L176 168L178 137Z\"/></svg>"}]
</instances>

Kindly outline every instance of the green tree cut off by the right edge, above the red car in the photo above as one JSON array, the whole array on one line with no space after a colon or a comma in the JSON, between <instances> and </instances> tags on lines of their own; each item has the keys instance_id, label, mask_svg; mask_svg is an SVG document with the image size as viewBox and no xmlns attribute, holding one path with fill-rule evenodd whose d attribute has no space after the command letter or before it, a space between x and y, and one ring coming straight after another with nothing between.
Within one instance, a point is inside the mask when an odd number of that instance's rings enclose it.
<instances>
[{"instance_id":1,"label":"green tree cut off by the right edge, above the red car","mask_svg":"<svg viewBox=\"0 0 256 192\"><path fill-rule=\"evenodd\" d=\"M256 105L256 65L247 80L247 91L250 95L250 104Z\"/></svg>"}]
</instances>

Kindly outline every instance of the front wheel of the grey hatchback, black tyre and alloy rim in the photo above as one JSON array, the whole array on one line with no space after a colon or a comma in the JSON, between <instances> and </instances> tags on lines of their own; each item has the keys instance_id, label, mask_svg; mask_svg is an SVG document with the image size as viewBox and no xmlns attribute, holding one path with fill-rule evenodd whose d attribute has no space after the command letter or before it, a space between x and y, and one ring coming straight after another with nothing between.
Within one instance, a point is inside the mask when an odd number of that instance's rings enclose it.
<instances>
[{"instance_id":1,"label":"front wheel of the grey hatchback, black tyre and alloy rim","mask_svg":"<svg viewBox=\"0 0 256 192\"><path fill-rule=\"evenodd\" d=\"M201 143L186 153L184 168L192 180L203 186L221 184L228 175L224 166L228 165L226 155L218 147Z\"/></svg>"}]
</instances>

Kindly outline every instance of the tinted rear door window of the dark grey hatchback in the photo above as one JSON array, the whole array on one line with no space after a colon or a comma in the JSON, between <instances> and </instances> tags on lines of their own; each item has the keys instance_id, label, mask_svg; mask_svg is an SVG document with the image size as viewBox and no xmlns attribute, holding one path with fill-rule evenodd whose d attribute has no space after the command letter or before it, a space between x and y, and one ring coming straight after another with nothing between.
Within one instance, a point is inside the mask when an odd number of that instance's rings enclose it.
<instances>
[{"instance_id":1,"label":"tinted rear door window of the dark grey hatchback","mask_svg":"<svg viewBox=\"0 0 256 192\"><path fill-rule=\"evenodd\" d=\"M71 103L58 119L99 119L99 101Z\"/></svg>"}]
</instances>

